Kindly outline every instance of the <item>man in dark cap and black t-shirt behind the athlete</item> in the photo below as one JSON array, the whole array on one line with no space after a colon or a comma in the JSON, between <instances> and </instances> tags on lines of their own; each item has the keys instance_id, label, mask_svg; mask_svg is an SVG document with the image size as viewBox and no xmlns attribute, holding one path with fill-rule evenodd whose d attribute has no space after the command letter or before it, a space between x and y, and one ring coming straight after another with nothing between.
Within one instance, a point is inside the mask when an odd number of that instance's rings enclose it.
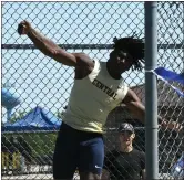
<instances>
[{"instance_id":1,"label":"man in dark cap and black t-shirt behind the athlete","mask_svg":"<svg viewBox=\"0 0 184 180\"><path fill-rule=\"evenodd\" d=\"M110 151L104 159L102 180L145 179L145 155L133 148L134 128L124 123L119 127L120 149Z\"/></svg>"}]
</instances>

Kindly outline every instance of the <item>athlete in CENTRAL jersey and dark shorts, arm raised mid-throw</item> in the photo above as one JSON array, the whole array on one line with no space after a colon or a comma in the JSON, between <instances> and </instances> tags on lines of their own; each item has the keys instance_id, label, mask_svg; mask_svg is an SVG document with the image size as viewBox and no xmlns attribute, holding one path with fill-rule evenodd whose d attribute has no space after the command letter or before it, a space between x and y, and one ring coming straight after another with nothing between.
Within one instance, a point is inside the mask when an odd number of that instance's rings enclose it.
<instances>
[{"instance_id":1,"label":"athlete in CENTRAL jersey and dark shorts, arm raised mid-throw","mask_svg":"<svg viewBox=\"0 0 184 180\"><path fill-rule=\"evenodd\" d=\"M114 50L105 63L93 61L84 53L68 53L28 21L19 24L18 32L27 34L44 55L74 67L74 84L53 156L54 179L72 179L76 168L81 180L100 179L104 159L103 125L109 113L125 104L136 119L144 121L144 106L121 76L131 67L141 68L143 41L132 36L115 39ZM181 128L161 117L159 121L171 129Z\"/></svg>"}]
</instances>

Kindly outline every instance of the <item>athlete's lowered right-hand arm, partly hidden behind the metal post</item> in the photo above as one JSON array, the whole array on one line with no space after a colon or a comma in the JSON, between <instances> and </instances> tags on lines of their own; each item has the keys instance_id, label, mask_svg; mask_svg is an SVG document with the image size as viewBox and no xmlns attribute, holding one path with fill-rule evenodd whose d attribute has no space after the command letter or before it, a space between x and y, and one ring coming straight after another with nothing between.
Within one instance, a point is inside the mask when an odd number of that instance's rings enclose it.
<instances>
[{"instance_id":1,"label":"athlete's lowered right-hand arm, partly hidden behind the metal post","mask_svg":"<svg viewBox=\"0 0 184 180\"><path fill-rule=\"evenodd\" d=\"M135 118L137 118L142 123L144 123L145 107L132 89L127 91L127 94L122 103L125 104L127 109L131 110L132 115ZM181 130L183 128L182 125L180 125L178 123L167 121L166 119L163 119L161 116L159 116L157 119L159 119L159 124L165 128L170 128L170 129L174 129L174 130Z\"/></svg>"}]
</instances>

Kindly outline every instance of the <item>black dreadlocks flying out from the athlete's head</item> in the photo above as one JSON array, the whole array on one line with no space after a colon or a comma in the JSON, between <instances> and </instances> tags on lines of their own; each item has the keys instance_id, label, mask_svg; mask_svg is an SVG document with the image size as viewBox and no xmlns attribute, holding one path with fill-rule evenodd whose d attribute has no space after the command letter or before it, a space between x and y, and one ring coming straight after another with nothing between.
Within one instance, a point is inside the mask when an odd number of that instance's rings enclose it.
<instances>
[{"instance_id":1,"label":"black dreadlocks flying out from the athlete's head","mask_svg":"<svg viewBox=\"0 0 184 180\"><path fill-rule=\"evenodd\" d=\"M134 35L130 38L117 39L114 38L114 50L122 50L129 53L133 60L133 68L142 70L142 63L144 63L144 41L143 39L137 39Z\"/></svg>"}]
</instances>

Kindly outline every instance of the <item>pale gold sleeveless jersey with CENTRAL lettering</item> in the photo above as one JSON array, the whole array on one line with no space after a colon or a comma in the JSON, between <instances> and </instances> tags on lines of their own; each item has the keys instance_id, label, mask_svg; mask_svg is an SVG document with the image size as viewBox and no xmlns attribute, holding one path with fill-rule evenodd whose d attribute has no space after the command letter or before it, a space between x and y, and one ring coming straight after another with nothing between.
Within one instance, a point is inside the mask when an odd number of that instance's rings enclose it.
<instances>
[{"instance_id":1,"label":"pale gold sleeveless jersey with CENTRAL lettering","mask_svg":"<svg viewBox=\"0 0 184 180\"><path fill-rule=\"evenodd\" d=\"M105 62L95 61L93 71L82 80L74 80L63 121L74 129L103 133L109 113L125 97L124 81L114 80Z\"/></svg>"}]
</instances>

